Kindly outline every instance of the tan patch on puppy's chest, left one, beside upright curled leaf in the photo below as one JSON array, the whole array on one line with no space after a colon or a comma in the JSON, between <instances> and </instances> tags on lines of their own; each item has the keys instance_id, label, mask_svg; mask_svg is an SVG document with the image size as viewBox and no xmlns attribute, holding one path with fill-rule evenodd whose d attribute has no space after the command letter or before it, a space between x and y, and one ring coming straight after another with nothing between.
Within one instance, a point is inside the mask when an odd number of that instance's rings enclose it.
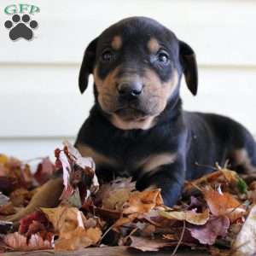
<instances>
[{"instance_id":1,"label":"tan patch on puppy's chest, left one, beside upright curled leaf","mask_svg":"<svg viewBox=\"0 0 256 256\"><path fill-rule=\"evenodd\" d=\"M117 166L116 160L96 152L96 150L89 146L79 143L76 148L78 148L80 154L83 156L90 156L95 161L96 166Z\"/></svg>"}]
</instances>

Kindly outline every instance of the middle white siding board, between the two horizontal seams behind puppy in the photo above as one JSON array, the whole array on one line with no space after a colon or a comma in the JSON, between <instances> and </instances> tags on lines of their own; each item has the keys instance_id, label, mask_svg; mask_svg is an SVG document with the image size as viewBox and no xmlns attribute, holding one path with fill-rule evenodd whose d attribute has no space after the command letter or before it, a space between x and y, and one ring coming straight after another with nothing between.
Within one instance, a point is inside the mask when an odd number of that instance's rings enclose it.
<instances>
[{"instance_id":1,"label":"middle white siding board, between the two horizontal seams behind puppy","mask_svg":"<svg viewBox=\"0 0 256 256\"><path fill-rule=\"evenodd\" d=\"M0 137L76 135L94 101L91 85L83 96L79 93L79 66L17 65L2 70ZM252 68L201 67L198 96L182 86L184 108L227 114L256 132L255 84Z\"/></svg>"}]
</instances>

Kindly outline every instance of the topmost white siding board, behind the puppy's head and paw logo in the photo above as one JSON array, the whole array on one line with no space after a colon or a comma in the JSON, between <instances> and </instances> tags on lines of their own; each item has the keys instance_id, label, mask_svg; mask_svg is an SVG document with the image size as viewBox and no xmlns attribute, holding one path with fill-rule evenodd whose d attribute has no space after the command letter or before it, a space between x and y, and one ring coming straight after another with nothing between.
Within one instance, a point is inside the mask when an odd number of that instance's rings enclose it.
<instances>
[{"instance_id":1,"label":"topmost white siding board, behind the puppy's head and paw logo","mask_svg":"<svg viewBox=\"0 0 256 256\"><path fill-rule=\"evenodd\" d=\"M29 3L29 1L28 1ZM1 1L1 7L10 4ZM1 26L0 61L76 63L84 48L107 26L127 16L160 20L195 49L201 65L256 67L256 2L194 0L39 1L39 27L32 42L11 42ZM0 15L3 24L8 15Z\"/></svg>"}]
</instances>

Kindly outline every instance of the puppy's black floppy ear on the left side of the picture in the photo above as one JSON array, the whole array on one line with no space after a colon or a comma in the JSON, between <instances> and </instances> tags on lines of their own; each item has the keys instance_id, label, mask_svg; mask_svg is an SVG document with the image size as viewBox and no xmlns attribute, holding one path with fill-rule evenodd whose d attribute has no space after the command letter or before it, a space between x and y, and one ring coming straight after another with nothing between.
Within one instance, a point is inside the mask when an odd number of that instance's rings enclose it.
<instances>
[{"instance_id":1,"label":"puppy's black floppy ear on the left side of the picture","mask_svg":"<svg viewBox=\"0 0 256 256\"><path fill-rule=\"evenodd\" d=\"M86 90L89 75L93 72L93 67L96 61L97 39L98 38L92 40L84 51L84 58L79 72L79 89L81 93L83 93L84 90Z\"/></svg>"}]
</instances>

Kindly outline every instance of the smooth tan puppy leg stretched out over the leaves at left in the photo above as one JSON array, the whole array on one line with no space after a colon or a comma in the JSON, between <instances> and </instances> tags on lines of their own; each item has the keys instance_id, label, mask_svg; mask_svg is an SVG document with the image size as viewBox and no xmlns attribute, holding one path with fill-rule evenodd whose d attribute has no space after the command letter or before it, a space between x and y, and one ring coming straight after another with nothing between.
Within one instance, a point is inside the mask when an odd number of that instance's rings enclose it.
<instances>
[{"instance_id":1,"label":"smooth tan puppy leg stretched out over the leaves at left","mask_svg":"<svg viewBox=\"0 0 256 256\"><path fill-rule=\"evenodd\" d=\"M32 200L26 208L17 212L15 215L7 217L5 220L17 223L20 218L35 211L39 207L56 207L63 190L62 177L50 179L47 183L38 189L38 192L32 197Z\"/></svg>"}]
</instances>

